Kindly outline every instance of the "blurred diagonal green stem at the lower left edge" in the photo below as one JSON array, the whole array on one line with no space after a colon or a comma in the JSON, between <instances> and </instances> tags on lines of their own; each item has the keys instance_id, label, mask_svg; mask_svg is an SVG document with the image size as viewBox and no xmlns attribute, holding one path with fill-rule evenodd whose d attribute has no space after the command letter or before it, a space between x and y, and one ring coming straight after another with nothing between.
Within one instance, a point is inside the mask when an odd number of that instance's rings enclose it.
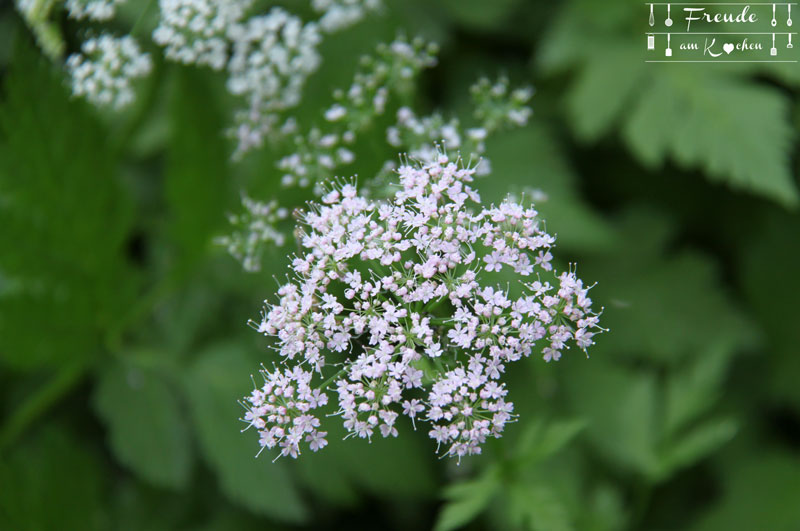
<instances>
[{"instance_id":1,"label":"blurred diagonal green stem at the lower left edge","mask_svg":"<svg viewBox=\"0 0 800 531\"><path fill-rule=\"evenodd\" d=\"M88 367L85 361L63 367L44 386L28 397L0 430L0 451L10 447L28 426L80 383Z\"/></svg>"}]
</instances>

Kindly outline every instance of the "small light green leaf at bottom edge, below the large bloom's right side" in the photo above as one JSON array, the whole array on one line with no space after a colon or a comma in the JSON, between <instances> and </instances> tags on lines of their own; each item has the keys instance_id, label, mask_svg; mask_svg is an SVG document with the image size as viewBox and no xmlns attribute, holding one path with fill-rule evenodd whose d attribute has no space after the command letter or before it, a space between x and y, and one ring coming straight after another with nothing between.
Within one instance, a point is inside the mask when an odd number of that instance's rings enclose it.
<instances>
[{"instance_id":1,"label":"small light green leaf at bottom edge, below the large bloom's right side","mask_svg":"<svg viewBox=\"0 0 800 531\"><path fill-rule=\"evenodd\" d=\"M452 531L475 519L489 506L498 492L500 483L492 471L473 481L457 483L444 492L448 502L439 512L435 531Z\"/></svg>"}]
</instances>

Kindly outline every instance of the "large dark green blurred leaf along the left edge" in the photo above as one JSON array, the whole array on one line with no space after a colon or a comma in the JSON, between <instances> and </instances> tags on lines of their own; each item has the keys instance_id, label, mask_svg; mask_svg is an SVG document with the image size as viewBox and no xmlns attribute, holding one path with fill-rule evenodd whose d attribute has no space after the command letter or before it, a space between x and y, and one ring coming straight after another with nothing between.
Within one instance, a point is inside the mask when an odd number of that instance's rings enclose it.
<instances>
[{"instance_id":1,"label":"large dark green blurred leaf along the left edge","mask_svg":"<svg viewBox=\"0 0 800 531\"><path fill-rule=\"evenodd\" d=\"M18 369L86 360L133 298L131 201L106 132L25 45L5 96L0 271L15 288L0 294L0 357Z\"/></svg>"}]
</instances>

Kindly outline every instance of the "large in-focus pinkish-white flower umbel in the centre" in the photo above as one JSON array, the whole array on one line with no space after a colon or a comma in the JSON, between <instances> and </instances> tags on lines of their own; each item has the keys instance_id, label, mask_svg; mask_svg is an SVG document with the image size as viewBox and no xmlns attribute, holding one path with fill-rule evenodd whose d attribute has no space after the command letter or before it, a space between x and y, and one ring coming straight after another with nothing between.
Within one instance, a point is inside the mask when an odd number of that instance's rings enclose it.
<instances>
[{"instance_id":1,"label":"large in-focus pinkish-white flower umbel in the centre","mask_svg":"<svg viewBox=\"0 0 800 531\"><path fill-rule=\"evenodd\" d=\"M307 434L312 450L321 447L308 398L301 399L308 407L275 413L261 409L262 397L274 395L281 378L290 380L279 386L289 399L296 389L308 397L309 374L340 367L327 382L351 435L397 436L402 413L429 422L446 455L480 453L513 419L500 381L506 365L534 351L557 360L570 345L586 349L602 330L574 271L553 271L554 238L533 208L481 207L469 184L475 169L444 154L398 173L390 200L368 200L343 184L301 218L294 280L252 323L276 338L293 367L265 371L264 387L248 399L245 420L262 446L279 441L281 454L295 457ZM518 280L503 290L492 277L506 269ZM327 382L316 388L316 404ZM276 438L288 425L297 428Z\"/></svg>"}]
</instances>

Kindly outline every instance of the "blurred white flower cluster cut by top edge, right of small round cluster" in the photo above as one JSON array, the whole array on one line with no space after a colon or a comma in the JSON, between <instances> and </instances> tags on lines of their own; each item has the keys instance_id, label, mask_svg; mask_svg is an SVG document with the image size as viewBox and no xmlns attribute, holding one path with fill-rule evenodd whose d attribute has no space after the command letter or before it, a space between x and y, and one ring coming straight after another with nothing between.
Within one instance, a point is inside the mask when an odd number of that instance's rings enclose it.
<instances>
[{"instance_id":1,"label":"blurred white flower cluster cut by top edge, right of small round cluster","mask_svg":"<svg viewBox=\"0 0 800 531\"><path fill-rule=\"evenodd\" d=\"M167 59L221 70L228 62L228 29L241 21L252 0L159 0L153 41Z\"/></svg>"}]
</instances>

